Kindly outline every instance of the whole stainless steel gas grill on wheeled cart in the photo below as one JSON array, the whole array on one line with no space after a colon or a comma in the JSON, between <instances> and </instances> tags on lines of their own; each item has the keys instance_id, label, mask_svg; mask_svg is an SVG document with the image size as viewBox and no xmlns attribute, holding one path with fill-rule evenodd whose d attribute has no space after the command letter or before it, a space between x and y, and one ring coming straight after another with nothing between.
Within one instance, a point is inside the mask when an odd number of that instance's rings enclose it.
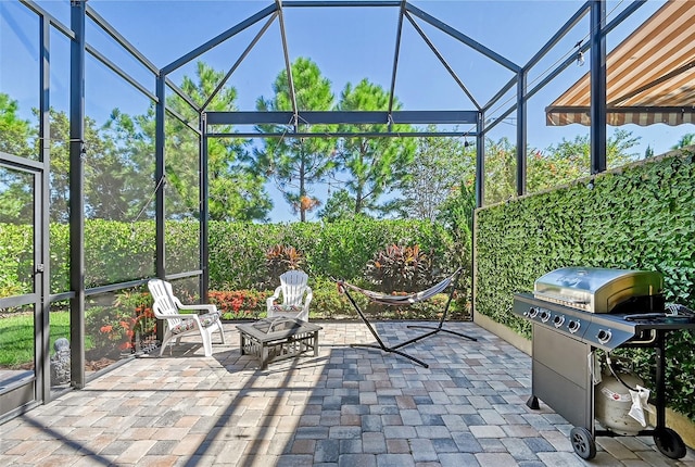
<instances>
[{"instance_id":1,"label":"whole stainless steel gas grill on wheeled cart","mask_svg":"<svg viewBox=\"0 0 695 467\"><path fill-rule=\"evenodd\" d=\"M596 430L594 412L594 351L649 348L656 354L656 427L637 436L653 436L659 451L681 458L681 437L666 427L665 343L671 331L695 329L687 308L668 307L659 273L631 269L565 267L535 280L533 294L514 296L514 313L533 328L532 395L574 425L574 452L585 459L596 454L594 437L620 436ZM629 405L628 405L629 406Z\"/></svg>"}]
</instances>

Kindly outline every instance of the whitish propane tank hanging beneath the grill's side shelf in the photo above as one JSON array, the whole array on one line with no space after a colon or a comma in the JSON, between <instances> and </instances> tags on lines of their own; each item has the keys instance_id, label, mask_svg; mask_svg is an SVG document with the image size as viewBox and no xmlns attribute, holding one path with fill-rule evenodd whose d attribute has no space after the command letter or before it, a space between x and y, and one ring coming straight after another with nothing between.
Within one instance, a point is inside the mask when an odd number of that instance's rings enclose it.
<instances>
[{"instance_id":1,"label":"whitish propane tank hanging beneath the grill's side shelf","mask_svg":"<svg viewBox=\"0 0 695 467\"><path fill-rule=\"evenodd\" d=\"M602 381L594 386L594 416L602 427L614 433L635 436L644 427L629 415L632 397L626 384L636 388L644 386L644 381L622 368L614 370L624 384L608 369L604 369Z\"/></svg>"}]
</instances>

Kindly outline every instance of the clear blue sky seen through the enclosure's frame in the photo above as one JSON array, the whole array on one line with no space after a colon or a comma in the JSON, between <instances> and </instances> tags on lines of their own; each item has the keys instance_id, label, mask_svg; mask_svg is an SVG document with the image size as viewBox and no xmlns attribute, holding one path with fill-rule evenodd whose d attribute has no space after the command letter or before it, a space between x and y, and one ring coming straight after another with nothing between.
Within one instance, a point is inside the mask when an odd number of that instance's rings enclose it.
<instances>
[{"instance_id":1,"label":"clear blue sky seen through the enclosure's frame","mask_svg":"<svg viewBox=\"0 0 695 467\"><path fill-rule=\"evenodd\" d=\"M270 0L254 1L142 1L142 0L89 0L104 20L155 66L164 67L208 39L240 23L250 15L270 5ZM567 18L583 4L583 0L414 0L412 4L441 22L472 38L495 53L518 65L523 65L553 36ZM607 10L615 16L628 1L611 0ZM662 0L650 0L608 38L608 48L615 47L637 24L654 12ZM67 0L39 1L38 4L65 25L70 25ZM290 59L308 56L333 84L336 94L346 83L362 78L390 87L397 27L396 8L288 8L285 22ZM265 23L235 36L212 51L200 56L216 70L226 72ZM441 30L418 21L427 37L434 43L450 66L480 104L494 96L511 74L503 66L451 38ZM558 43L530 74L531 86L544 73L568 54L574 53L574 45L586 40L586 16ZM87 40L154 91L154 78L131 58L124 54L103 31L88 22ZM37 70L35 45L38 43L36 16L16 0L0 0L0 92L10 93L20 101L25 115L37 106ZM67 109L68 41L62 35L51 36L52 105ZM195 61L182 66L170 77L180 83L184 75L194 75ZM232 75L229 85L239 93L238 106L253 110L260 96L270 97L270 85L283 68L279 26L276 21L250 55ZM578 125L554 128L544 124L543 109L589 71L572 66L560 78L539 92L529 103L529 144L539 149L557 143L561 138L573 139L589 129ZM93 59L87 64L87 114L103 122L114 108L127 113L143 113L149 100ZM444 66L429 49L416 29L404 22L395 94L405 110L472 110L471 101L458 88ZM507 96L503 103L513 102ZM506 110L506 105L504 105ZM500 113L496 109L490 115ZM27 116L29 117L29 116ZM644 152L650 146L657 153L668 150L678 139L692 132L692 127L648 128L621 127L633 131L642 140L636 150ZM463 128L472 129L472 128ZM489 135L493 139L507 137L514 140L514 119L497 125ZM612 134L612 128L608 129ZM281 200L276 200L274 220L294 218Z\"/></svg>"}]
</instances>

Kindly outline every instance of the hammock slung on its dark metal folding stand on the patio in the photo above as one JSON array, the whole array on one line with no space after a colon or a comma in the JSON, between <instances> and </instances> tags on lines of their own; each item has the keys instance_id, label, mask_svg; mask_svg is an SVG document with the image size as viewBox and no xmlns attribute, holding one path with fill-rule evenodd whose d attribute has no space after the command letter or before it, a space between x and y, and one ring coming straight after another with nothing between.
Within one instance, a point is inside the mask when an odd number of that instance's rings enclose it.
<instances>
[{"instance_id":1,"label":"hammock slung on its dark metal folding stand on the patio","mask_svg":"<svg viewBox=\"0 0 695 467\"><path fill-rule=\"evenodd\" d=\"M365 325L367 325L367 328L369 329L369 332L371 332L371 336L374 336L374 338L376 339L377 343L376 344L350 344L351 348L370 348L370 349L378 349L382 352L387 352L387 353L395 353L397 355L404 356L408 359L410 359L412 362L417 363L418 365L425 367L425 368L429 368L429 365L426 364L425 362L422 362L419 358L414 357L413 355L408 355L405 352L400 351L399 349L404 348L406 345L409 345L412 343L415 343L419 340L422 340L425 338L428 338L430 336L434 336L438 332L448 332L451 335L454 336L458 336L460 338L464 339L469 339L471 341L477 341L478 339L468 336L468 335L464 335L462 332L456 332L456 331L452 331L448 329L444 329L443 325L444 325L444 320L446 319L446 315L448 314L448 307L452 303L452 300L454 298L454 291L456 290L456 283L458 282L458 277L460 276L460 269L458 269L456 273L454 273L453 276L450 276L447 279L445 279L444 281L440 282L438 286L443 285L444 287L442 288L445 289L450 283L451 283L451 291L448 292L448 299L446 300L446 305L444 306L444 312L442 313L442 316L439 320L438 326L422 326L422 325L410 325L407 326L408 328L419 328L419 329L430 329L429 332L426 332L421 336L417 336L413 339L408 339L407 341L403 341L401 343L397 343L395 345L391 345L388 346L383 343L383 340L381 340L381 338L379 337L379 332L377 332L377 330L375 329L374 325L371 323L369 323L369 319L367 319L367 317L365 316L364 312L359 308L359 305L357 305L357 303L355 302L355 300L352 298L352 295L350 294L350 291L348 289L354 289L354 290L358 290L361 292L363 292L367 298L369 298L371 301L378 302L378 303L383 303L387 305L394 305L394 304L405 304L405 303L416 303L419 301L424 301L429 299L430 296L433 296L434 293L432 293L431 295L428 295L425 292L420 292L420 294L415 294L415 296L417 296L417 299L413 300L408 300L408 298L406 296L401 296L401 295L379 295L377 293L370 292L368 290L364 290L364 289L359 289L355 286L351 286L350 283L343 281L343 280L339 280L338 281L338 289L345 294L345 296L348 296L348 300L350 301L350 303L352 304L352 306L355 308L355 311L357 312L357 314L359 315L359 318L363 320L363 323ZM432 287L431 289L428 290L433 290L434 288L437 288L438 286ZM366 292L366 293L365 293ZM395 302L391 302L390 300L394 300Z\"/></svg>"}]
</instances>

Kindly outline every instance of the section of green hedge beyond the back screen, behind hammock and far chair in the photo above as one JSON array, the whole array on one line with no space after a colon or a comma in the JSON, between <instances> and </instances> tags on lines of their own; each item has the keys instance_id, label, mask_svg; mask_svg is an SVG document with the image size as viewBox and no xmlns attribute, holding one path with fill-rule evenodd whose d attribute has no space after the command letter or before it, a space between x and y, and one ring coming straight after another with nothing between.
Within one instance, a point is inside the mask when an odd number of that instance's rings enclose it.
<instances>
[{"instance_id":1,"label":"section of green hedge beyond the back screen, behind hammock and far chair","mask_svg":"<svg viewBox=\"0 0 695 467\"><path fill-rule=\"evenodd\" d=\"M453 272L453 240L438 224L418 220L355 220L330 224L210 225L210 288L219 290L275 287L265 252L273 245L294 247L312 277L362 280L374 254L391 243L419 244L444 273Z\"/></svg>"}]
</instances>

